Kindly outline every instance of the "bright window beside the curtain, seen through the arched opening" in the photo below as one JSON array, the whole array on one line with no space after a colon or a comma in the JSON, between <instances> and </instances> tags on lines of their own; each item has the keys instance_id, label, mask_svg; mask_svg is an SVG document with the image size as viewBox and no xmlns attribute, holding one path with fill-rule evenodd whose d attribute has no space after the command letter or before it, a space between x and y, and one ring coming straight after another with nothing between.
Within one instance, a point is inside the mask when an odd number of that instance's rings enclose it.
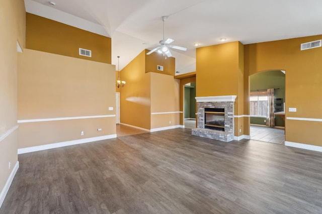
<instances>
[{"instance_id":1,"label":"bright window beside the curtain, seen through the arched opening","mask_svg":"<svg viewBox=\"0 0 322 214\"><path fill-rule=\"evenodd\" d=\"M267 117L267 92L250 94L251 116Z\"/></svg>"}]
</instances>

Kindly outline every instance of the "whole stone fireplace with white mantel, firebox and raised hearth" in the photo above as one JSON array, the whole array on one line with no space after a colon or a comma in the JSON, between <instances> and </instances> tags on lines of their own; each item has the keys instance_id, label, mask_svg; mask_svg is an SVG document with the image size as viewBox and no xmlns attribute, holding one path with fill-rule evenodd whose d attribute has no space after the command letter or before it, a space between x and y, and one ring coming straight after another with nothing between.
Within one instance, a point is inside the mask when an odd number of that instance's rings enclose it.
<instances>
[{"instance_id":1,"label":"whole stone fireplace with white mantel, firebox and raised hearth","mask_svg":"<svg viewBox=\"0 0 322 214\"><path fill-rule=\"evenodd\" d=\"M197 128L192 135L232 141L234 138L234 101L236 95L202 96L197 100Z\"/></svg>"}]
</instances>

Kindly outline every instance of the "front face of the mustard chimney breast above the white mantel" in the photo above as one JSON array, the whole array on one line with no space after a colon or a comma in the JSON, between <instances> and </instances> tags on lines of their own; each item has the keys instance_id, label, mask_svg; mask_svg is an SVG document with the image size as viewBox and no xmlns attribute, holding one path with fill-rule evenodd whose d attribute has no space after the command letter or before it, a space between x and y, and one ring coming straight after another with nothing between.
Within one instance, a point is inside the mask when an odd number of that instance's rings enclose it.
<instances>
[{"instance_id":1,"label":"front face of the mustard chimney breast above the white mantel","mask_svg":"<svg viewBox=\"0 0 322 214\"><path fill-rule=\"evenodd\" d=\"M238 42L196 49L196 96L237 95Z\"/></svg>"}]
</instances>

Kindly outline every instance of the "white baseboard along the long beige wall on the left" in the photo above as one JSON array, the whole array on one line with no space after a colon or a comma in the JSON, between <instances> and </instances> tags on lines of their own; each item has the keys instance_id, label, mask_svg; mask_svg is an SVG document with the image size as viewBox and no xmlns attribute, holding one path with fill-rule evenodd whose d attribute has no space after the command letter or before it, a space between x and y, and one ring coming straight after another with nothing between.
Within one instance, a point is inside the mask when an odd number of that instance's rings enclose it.
<instances>
[{"instance_id":1,"label":"white baseboard along the long beige wall on the left","mask_svg":"<svg viewBox=\"0 0 322 214\"><path fill-rule=\"evenodd\" d=\"M93 138L84 138L84 139L65 141L65 142L59 142L59 143L52 143L52 144L33 146L33 147L27 147L27 148L21 148L21 149L18 149L18 154L37 152L37 151L41 151L41 150L54 149L54 148L71 146L71 145L76 145L76 144L90 143L90 142L94 142L94 141L101 141L101 140L107 140L107 139L112 139L112 138L116 138L116 134L93 137Z\"/></svg>"}]
</instances>

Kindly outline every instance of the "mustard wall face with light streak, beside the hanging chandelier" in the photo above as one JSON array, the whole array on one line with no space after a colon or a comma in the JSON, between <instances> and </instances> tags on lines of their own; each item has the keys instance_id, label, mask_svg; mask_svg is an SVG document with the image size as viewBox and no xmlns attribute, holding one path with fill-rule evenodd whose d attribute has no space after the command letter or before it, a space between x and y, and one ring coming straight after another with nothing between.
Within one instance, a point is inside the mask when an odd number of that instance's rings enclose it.
<instances>
[{"instance_id":1,"label":"mustard wall face with light streak, beside the hanging chandelier","mask_svg":"<svg viewBox=\"0 0 322 214\"><path fill-rule=\"evenodd\" d=\"M145 50L120 72L125 87L120 89L121 123L150 129L151 84L150 73L145 73Z\"/></svg>"}]
</instances>

